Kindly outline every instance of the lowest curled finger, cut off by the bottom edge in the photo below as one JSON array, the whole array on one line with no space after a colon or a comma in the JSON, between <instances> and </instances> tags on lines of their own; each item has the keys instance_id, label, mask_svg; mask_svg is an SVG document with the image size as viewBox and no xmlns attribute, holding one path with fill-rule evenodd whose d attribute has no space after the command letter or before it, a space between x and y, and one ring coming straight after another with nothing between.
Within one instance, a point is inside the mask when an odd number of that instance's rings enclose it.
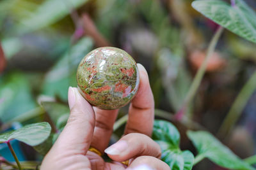
<instances>
[{"instance_id":1,"label":"lowest curled finger, cut off by the bottom edge","mask_svg":"<svg viewBox=\"0 0 256 170\"><path fill-rule=\"evenodd\" d=\"M150 156L141 156L132 161L127 170L170 170L170 167L160 159Z\"/></svg>"}]
</instances>

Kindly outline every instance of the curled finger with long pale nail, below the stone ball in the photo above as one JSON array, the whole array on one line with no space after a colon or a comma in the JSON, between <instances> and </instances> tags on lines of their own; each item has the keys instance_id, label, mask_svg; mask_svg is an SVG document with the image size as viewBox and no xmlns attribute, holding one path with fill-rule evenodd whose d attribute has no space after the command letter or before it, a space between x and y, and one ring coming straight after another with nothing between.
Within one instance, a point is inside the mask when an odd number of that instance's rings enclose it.
<instances>
[{"instance_id":1,"label":"curled finger with long pale nail, below the stone ball","mask_svg":"<svg viewBox=\"0 0 256 170\"><path fill-rule=\"evenodd\" d=\"M131 133L105 150L108 156L118 162L141 155L161 158L161 148L145 134Z\"/></svg>"}]
</instances>

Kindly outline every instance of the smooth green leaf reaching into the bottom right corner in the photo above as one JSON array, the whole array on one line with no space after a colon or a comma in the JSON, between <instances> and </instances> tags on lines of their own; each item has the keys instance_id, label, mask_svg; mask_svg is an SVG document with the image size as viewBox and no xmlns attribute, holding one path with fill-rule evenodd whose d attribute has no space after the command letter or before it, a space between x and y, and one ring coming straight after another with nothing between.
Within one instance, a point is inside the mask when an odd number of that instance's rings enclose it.
<instances>
[{"instance_id":1,"label":"smooth green leaf reaching into the bottom right corner","mask_svg":"<svg viewBox=\"0 0 256 170\"><path fill-rule=\"evenodd\" d=\"M212 134L205 131L188 131L200 157L206 157L219 166L228 169L254 169L249 164L239 159L227 146L223 145ZM198 156L197 156L198 157Z\"/></svg>"}]
</instances>

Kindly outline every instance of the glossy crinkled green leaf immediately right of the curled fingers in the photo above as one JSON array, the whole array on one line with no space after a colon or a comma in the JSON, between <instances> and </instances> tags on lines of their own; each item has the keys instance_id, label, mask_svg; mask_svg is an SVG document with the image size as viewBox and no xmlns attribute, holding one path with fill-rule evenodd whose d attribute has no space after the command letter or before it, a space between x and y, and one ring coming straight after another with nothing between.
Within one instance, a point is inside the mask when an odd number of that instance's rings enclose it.
<instances>
[{"instance_id":1,"label":"glossy crinkled green leaf immediately right of the curled fingers","mask_svg":"<svg viewBox=\"0 0 256 170\"><path fill-rule=\"evenodd\" d=\"M188 150L180 150L180 134L173 124L164 120L155 120L152 139L161 147L161 159L171 169L192 169L194 155Z\"/></svg>"}]
</instances>

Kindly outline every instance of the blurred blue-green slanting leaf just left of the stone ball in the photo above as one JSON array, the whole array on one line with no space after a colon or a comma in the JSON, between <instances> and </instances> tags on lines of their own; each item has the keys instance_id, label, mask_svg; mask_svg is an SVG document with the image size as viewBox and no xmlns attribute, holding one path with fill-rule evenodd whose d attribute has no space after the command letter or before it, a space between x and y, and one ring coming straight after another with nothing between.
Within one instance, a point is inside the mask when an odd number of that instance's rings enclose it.
<instances>
[{"instance_id":1,"label":"blurred blue-green slanting leaf just left of the stone ball","mask_svg":"<svg viewBox=\"0 0 256 170\"><path fill-rule=\"evenodd\" d=\"M63 57L46 74L43 85L43 94L58 96L67 100L68 87L76 87L76 70L83 57L92 50L93 42L90 38L83 38L72 46Z\"/></svg>"}]
</instances>

